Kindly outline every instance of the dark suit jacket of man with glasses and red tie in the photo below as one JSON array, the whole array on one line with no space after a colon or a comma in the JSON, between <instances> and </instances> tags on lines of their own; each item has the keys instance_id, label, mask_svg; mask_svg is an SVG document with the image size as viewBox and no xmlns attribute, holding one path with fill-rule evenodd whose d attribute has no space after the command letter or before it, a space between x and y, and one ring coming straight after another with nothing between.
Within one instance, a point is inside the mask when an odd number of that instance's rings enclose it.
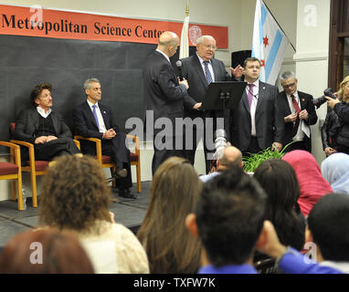
<instances>
[{"instance_id":1,"label":"dark suit jacket of man with glasses and red tie","mask_svg":"<svg viewBox=\"0 0 349 292\"><path fill-rule=\"evenodd\" d=\"M308 111L308 120L303 120L308 126L316 124L318 117L316 115L315 107L312 103L312 95L298 91L298 97L300 99L301 110ZM285 91L281 91L278 96L280 103L280 110L283 117L291 115L291 109L289 100ZM285 146L292 141L292 130L293 122L285 122L285 132L282 139L282 144ZM304 135L304 142L309 151L312 151L312 139L308 138L307 135Z\"/></svg>"}]
</instances>

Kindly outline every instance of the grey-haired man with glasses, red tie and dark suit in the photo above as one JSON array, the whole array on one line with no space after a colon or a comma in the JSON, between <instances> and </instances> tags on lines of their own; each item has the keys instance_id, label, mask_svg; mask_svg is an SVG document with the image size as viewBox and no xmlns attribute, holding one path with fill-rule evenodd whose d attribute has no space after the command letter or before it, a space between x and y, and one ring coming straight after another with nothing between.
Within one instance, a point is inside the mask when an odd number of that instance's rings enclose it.
<instances>
[{"instance_id":1,"label":"grey-haired man with glasses, red tie and dark suit","mask_svg":"<svg viewBox=\"0 0 349 292\"><path fill-rule=\"evenodd\" d=\"M316 124L318 117L312 103L312 95L297 90L297 78L293 72L280 75L284 89L279 93L280 110L285 121L283 144L286 151L305 150L312 152L312 136L309 126Z\"/></svg>"}]
</instances>

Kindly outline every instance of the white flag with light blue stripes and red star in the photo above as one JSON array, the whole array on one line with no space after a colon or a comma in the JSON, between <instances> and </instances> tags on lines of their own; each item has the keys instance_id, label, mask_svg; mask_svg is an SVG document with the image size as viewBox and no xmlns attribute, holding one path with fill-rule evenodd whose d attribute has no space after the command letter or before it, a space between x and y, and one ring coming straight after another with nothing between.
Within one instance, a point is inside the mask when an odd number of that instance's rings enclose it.
<instances>
[{"instance_id":1,"label":"white flag with light blue stripes and red star","mask_svg":"<svg viewBox=\"0 0 349 292\"><path fill-rule=\"evenodd\" d=\"M253 26L252 57L261 62L260 77L263 82L275 84L289 39L270 14L262 0L257 0Z\"/></svg>"}]
</instances>

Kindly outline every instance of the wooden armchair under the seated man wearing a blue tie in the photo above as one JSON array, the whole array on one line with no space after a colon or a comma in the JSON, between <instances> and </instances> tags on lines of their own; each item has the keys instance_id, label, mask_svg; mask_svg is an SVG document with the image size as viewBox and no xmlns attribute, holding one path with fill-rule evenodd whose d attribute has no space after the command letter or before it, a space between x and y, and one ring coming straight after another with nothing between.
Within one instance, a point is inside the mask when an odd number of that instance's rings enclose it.
<instances>
[{"instance_id":1,"label":"wooden armchair under the seated man wearing a blue tie","mask_svg":"<svg viewBox=\"0 0 349 292\"><path fill-rule=\"evenodd\" d=\"M140 151L140 141L137 136L126 135L126 138L132 139L135 147L135 151L130 151L130 164L136 167L137 173L137 192L142 192L142 182L141 182L141 151ZM95 158L100 163L101 168L112 168L115 171L115 163L111 161L111 157L107 155L102 155L101 153L101 141L98 138L85 138L79 135L74 136L75 140L86 140L96 143L96 156Z\"/></svg>"}]
</instances>

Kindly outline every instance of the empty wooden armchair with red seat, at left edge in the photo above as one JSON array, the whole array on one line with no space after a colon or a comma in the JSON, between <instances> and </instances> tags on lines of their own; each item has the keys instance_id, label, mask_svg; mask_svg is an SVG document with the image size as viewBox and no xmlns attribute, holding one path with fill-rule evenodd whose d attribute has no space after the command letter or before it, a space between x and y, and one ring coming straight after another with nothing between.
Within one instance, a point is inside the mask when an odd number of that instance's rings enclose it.
<instances>
[{"instance_id":1,"label":"empty wooden armchair with red seat, at left edge","mask_svg":"<svg viewBox=\"0 0 349 292\"><path fill-rule=\"evenodd\" d=\"M9 147L11 151L11 161L0 162L0 180L12 180L12 200L16 200L17 193L18 210L24 210L22 197L22 169L20 147L14 143L5 141L0 141L0 145Z\"/></svg>"}]
</instances>

